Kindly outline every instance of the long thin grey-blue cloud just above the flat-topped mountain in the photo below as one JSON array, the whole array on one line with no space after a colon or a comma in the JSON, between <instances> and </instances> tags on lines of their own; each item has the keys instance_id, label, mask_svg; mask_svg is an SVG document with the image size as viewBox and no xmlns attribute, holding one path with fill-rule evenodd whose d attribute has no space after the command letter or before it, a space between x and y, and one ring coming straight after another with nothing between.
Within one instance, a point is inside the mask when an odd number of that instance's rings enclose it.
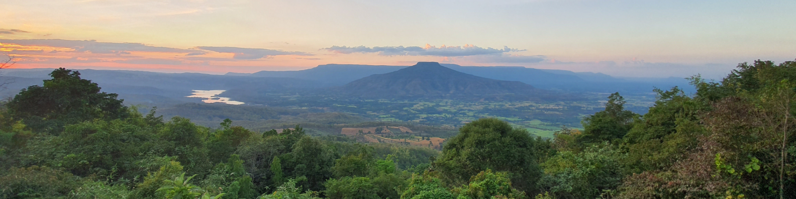
<instances>
[{"instance_id":1,"label":"long thin grey-blue cloud just above the flat-topped mountain","mask_svg":"<svg viewBox=\"0 0 796 199\"><path fill-rule=\"evenodd\" d=\"M481 48L475 45L463 45L463 46L445 46L442 45L437 48L434 45L426 45L425 47L419 46L384 46L384 47L365 47L365 46L357 46L357 47L348 47L348 46L337 46L334 45L329 48L324 48L322 50L326 50L332 53L342 53L342 54L350 54L350 53L378 53L380 56L435 56L435 57L462 57L462 56L474 56L474 55L488 55L488 54L500 54L500 53L509 53L509 52L518 52L518 51L525 51L520 49L511 49L508 46L503 46L503 49L493 49L493 48Z\"/></svg>"}]
</instances>

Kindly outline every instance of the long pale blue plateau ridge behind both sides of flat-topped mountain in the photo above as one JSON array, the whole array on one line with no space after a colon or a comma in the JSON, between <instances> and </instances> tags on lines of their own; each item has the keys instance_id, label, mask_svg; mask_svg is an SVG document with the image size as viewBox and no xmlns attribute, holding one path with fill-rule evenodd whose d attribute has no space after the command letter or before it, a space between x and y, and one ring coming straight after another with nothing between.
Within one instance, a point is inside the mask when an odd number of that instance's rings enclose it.
<instances>
[{"instance_id":1,"label":"long pale blue plateau ridge behind both sides of flat-topped mountain","mask_svg":"<svg viewBox=\"0 0 796 199\"><path fill-rule=\"evenodd\" d=\"M536 88L567 92L652 92L653 88L687 86L681 78L626 80L599 72L572 72L566 70L525 68L519 66L461 66L441 64L458 72L494 80L520 81ZM298 71L260 71L254 73L229 72L227 76L289 77L318 81L325 87L348 84L366 76L394 72L408 66L322 64Z\"/></svg>"}]
</instances>

